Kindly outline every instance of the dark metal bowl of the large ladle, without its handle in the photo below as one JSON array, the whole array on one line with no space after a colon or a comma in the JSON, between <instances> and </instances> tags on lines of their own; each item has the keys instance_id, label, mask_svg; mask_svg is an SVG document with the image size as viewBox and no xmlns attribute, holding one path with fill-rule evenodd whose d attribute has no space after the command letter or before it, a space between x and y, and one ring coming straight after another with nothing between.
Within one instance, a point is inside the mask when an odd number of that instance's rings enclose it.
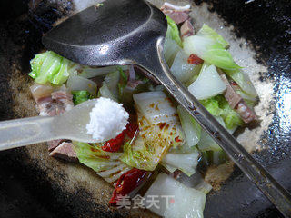
<instances>
[{"instance_id":1,"label":"dark metal bowl of the large ladle, without its handle","mask_svg":"<svg viewBox=\"0 0 291 218\"><path fill-rule=\"evenodd\" d=\"M135 8L135 10L133 10ZM165 15L140 0L105 1L66 19L43 37L45 47L79 64L136 64L166 35Z\"/></svg>"}]
</instances>

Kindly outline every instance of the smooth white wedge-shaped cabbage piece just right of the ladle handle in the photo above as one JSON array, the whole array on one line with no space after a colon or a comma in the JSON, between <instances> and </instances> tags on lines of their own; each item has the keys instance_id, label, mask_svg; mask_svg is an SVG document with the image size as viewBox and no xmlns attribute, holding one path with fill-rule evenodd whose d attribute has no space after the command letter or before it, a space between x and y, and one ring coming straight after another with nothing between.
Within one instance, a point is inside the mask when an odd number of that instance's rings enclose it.
<instances>
[{"instance_id":1,"label":"smooth white wedge-shaped cabbage piece just right of the ladle handle","mask_svg":"<svg viewBox=\"0 0 291 218\"><path fill-rule=\"evenodd\" d=\"M202 68L201 73L188 90L198 100L207 99L226 90L226 84L222 81L214 65Z\"/></svg>"}]
</instances>

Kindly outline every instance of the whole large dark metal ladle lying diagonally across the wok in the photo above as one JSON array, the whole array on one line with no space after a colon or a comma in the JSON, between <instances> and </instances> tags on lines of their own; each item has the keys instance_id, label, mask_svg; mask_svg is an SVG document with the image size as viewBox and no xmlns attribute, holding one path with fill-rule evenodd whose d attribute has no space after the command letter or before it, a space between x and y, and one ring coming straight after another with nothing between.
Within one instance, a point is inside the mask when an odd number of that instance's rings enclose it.
<instances>
[{"instance_id":1,"label":"whole large dark metal ladle lying diagonally across the wok","mask_svg":"<svg viewBox=\"0 0 291 218\"><path fill-rule=\"evenodd\" d=\"M279 211L291 217L290 193L171 74L163 55L166 28L165 15L153 5L142 0L107 0L55 26L43 37L43 44L80 64L136 64L146 69L165 85Z\"/></svg>"}]
</instances>

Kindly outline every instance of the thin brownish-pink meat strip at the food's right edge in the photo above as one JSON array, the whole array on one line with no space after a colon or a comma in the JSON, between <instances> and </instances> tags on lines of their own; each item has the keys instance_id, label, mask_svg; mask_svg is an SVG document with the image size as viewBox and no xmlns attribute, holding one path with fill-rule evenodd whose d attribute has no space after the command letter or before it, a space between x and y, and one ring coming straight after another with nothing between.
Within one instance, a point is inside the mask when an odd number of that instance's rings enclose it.
<instances>
[{"instance_id":1,"label":"thin brownish-pink meat strip at the food's right edge","mask_svg":"<svg viewBox=\"0 0 291 218\"><path fill-rule=\"evenodd\" d=\"M246 104L242 96L236 93L235 88L228 82L226 74L222 74L220 71L220 77L226 84L226 92L224 95L230 107L236 110L246 124L257 120L255 112Z\"/></svg>"}]
</instances>

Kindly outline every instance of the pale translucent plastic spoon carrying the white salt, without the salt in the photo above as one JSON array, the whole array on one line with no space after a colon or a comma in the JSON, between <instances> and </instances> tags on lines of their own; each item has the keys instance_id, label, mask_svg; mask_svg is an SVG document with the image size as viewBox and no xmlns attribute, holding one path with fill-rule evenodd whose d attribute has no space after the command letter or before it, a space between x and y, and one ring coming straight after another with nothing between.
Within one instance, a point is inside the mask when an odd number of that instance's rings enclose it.
<instances>
[{"instance_id":1,"label":"pale translucent plastic spoon carrying the white salt, without the salt","mask_svg":"<svg viewBox=\"0 0 291 218\"><path fill-rule=\"evenodd\" d=\"M72 139L96 143L86 133L92 108L96 100L76 105L72 110L57 116L35 116L0 122L0 151L55 139Z\"/></svg>"}]
</instances>

